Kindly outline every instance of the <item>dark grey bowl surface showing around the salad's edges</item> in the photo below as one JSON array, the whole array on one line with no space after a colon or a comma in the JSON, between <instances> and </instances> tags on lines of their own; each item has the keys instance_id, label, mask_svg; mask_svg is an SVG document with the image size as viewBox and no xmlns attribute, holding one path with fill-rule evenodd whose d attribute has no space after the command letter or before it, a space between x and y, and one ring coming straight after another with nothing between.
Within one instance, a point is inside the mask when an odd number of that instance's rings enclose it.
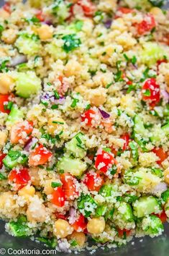
<instances>
[{"instance_id":1,"label":"dark grey bowl surface showing around the salad's edges","mask_svg":"<svg viewBox=\"0 0 169 256\"><path fill-rule=\"evenodd\" d=\"M113 0L112 0L113 1ZM167 1L166 7L169 7L169 0ZM4 1L0 0L0 6L4 3ZM45 247L41 243L32 242L30 239L17 238L13 236L9 236L4 231L4 221L0 221L0 255L1 248L5 248L6 250L9 248L12 249L49 249ZM134 244L132 243L134 242ZM158 236L155 238L150 238L149 236L145 236L140 239L133 239L132 242L129 242L127 245L119 247L117 249L109 249L102 250L98 249L93 256L169 256L169 223L165 225L165 232L162 236ZM9 256L6 252L5 256ZM15 254L16 255L16 254ZM20 254L19 254L20 255ZM16 255L16 256L19 256ZM22 254L23 255L23 254ZM46 254L53 256L51 254ZM66 253L57 253L57 256L72 256L75 255L73 252L71 254ZM89 256L91 255L88 251L83 251L78 253L79 256Z\"/></svg>"}]
</instances>

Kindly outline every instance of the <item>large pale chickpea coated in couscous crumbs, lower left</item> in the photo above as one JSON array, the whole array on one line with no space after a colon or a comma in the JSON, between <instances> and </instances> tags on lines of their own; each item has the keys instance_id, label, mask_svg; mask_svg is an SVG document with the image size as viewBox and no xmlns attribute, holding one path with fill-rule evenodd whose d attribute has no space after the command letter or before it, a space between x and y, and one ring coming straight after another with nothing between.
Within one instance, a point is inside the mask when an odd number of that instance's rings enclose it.
<instances>
[{"instance_id":1,"label":"large pale chickpea coated in couscous crumbs, lower left","mask_svg":"<svg viewBox=\"0 0 169 256\"><path fill-rule=\"evenodd\" d=\"M47 218L47 210L45 205L42 204L42 200L40 200L37 195L32 197L26 214L27 219L30 222L45 222Z\"/></svg>"}]
</instances>

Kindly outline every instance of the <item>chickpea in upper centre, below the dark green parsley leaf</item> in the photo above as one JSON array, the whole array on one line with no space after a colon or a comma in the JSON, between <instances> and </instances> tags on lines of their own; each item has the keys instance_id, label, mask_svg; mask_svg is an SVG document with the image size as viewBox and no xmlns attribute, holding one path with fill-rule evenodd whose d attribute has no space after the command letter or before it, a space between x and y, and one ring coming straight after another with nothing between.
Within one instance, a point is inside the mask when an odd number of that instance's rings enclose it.
<instances>
[{"instance_id":1,"label":"chickpea in upper centre, below the dark green parsley leaf","mask_svg":"<svg viewBox=\"0 0 169 256\"><path fill-rule=\"evenodd\" d=\"M73 75L77 75L81 72L81 64L78 61L70 59L68 63L65 65L65 76L71 77Z\"/></svg>"}]
</instances>

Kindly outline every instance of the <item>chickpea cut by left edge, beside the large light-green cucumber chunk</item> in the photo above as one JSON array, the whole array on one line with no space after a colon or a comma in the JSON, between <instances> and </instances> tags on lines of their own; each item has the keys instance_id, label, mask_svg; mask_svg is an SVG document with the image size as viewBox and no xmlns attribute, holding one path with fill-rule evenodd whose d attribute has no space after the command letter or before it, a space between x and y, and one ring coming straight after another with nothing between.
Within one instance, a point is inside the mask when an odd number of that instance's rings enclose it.
<instances>
[{"instance_id":1,"label":"chickpea cut by left edge, beside the large light-green cucumber chunk","mask_svg":"<svg viewBox=\"0 0 169 256\"><path fill-rule=\"evenodd\" d=\"M7 94L12 91L14 88L14 80L9 74L1 73L0 74L0 93Z\"/></svg>"}]
</instances>

